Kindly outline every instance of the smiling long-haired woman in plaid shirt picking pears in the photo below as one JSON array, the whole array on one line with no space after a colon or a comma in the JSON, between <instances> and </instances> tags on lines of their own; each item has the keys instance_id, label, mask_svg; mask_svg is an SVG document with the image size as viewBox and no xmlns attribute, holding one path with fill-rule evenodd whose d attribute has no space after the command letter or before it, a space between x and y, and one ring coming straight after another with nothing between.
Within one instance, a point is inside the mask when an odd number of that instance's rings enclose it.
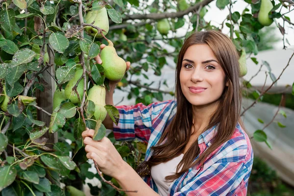
<instances>
[{"instance_id":1,"label":"smiling long-haired woman in plaid shirt picking pears","mask_svg":"<svg viewBox=\"0 0 294 196\"><path fill-rule=\"evenodd\" d=\"M194 33L178 56L176 101L119 106L117 126L106 117L103 124L113 129L116 140L148 143L150 175L142 179L106 137L93 141L94 130L82 134L87 158L124 190L138 191L128 196L245 196L253 151L238 122L238 58L227 35ZM111 83L106 104L113 105L117 82Z\"/></svg>"}]
</instances>

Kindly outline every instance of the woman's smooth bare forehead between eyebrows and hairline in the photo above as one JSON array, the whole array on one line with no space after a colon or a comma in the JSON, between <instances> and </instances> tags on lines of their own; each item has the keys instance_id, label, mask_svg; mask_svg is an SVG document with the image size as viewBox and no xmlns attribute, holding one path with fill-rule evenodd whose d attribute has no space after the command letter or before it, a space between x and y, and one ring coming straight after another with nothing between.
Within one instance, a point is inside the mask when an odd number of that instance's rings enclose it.
<instances>
[{"instance_id":1,"label":"woman's smooth bare forehead between eyebrows and hairline","mask_svg":"<svg viewBox=\"0 0 294 196\"><path fill-rule=\"evenodd\" d=\"M184 58L188 58L193 61L204 61L214 59L217 60L212 50L207 44L195 44L190 46L184 54Z\"/></svg>"}]
</instances>

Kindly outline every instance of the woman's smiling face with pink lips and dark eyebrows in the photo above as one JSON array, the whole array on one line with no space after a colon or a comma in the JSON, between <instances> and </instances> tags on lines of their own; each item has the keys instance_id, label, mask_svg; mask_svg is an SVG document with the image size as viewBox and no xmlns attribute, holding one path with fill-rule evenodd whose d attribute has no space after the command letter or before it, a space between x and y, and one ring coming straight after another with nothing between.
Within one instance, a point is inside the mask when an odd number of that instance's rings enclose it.
<instances>
[{"instance_id":1,"label":"woman's smiling face with pink lips and dark eyebrows","mask_svg":"<svg viewBox=\"0 0 294 196\"><path fill-rule=\"evenodd\" d=\"M217 101L223 92L225 73L207 44L190 46L180 71L181 89L194 106Z\"/></svg>"}]
</instances>

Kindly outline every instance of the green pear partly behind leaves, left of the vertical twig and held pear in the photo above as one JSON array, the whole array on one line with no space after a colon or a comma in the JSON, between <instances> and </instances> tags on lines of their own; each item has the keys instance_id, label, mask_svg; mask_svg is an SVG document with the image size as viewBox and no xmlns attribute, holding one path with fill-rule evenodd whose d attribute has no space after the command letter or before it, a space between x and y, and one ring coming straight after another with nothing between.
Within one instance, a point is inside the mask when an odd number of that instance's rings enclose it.
<instances>
[{"instance_id":1,"label":"green pear partly behind leaves, left of the vertical twig and held pear","mask_svg":"<svg viewBox=\"0 0 294 196\"><path fill-rule=\"evenodd\" d=\"M73 86L77 83L78 79L82 77L83 69L80 66L77 66L75 69L74 77L69 81L69 83L65 86L64 94L66 99L70 99L73 104L81 103L84 93L84 80L80 80L80 82L76 86L76 91L78 94L73 91Z\"/></svg>"}]
</instances>

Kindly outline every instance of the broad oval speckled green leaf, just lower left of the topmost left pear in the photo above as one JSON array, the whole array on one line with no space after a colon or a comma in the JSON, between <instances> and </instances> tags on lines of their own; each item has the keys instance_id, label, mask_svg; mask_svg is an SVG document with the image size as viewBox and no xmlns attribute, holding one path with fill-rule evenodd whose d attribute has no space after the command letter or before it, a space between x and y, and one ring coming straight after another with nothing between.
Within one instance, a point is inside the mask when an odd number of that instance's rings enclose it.
<instances>
[{"instance_id":1,"label":"broad oval speckled green leaf, just lower left of the topmost left pear","mask_svg":"<svg viewBox=\"0 0 294 196\"><path fill-rule=\"evenodd\" d=\"M59 53L63 53L70 45L69 40L61 33L51 33L49 36L49 43L52 48Z\"/></svg>"}]
</instances>

